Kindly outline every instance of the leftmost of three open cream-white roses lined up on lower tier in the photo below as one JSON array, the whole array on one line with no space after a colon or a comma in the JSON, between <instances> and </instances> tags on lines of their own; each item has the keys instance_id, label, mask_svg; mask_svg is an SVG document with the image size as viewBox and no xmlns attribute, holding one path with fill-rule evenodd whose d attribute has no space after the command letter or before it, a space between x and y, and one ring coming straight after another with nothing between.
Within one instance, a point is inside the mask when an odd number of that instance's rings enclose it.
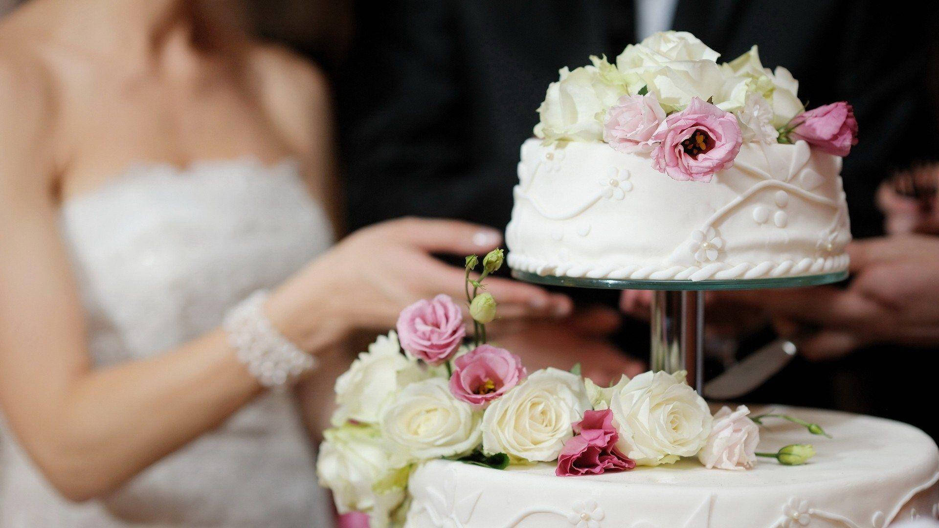
<instances>
[{"instance_id":1,"label":"leftmost of three open cream-white roses lined up on lower tier","mask_svg":"<svg viewBox=\"0 0 939 528\"><path fill-rule=\"evenodd\" d=\"M399 390L381 412L381 434L405 462L466 455L482 438L482 412L450 392L448 380L432 378Z\"/></svg>"}]
</instances>

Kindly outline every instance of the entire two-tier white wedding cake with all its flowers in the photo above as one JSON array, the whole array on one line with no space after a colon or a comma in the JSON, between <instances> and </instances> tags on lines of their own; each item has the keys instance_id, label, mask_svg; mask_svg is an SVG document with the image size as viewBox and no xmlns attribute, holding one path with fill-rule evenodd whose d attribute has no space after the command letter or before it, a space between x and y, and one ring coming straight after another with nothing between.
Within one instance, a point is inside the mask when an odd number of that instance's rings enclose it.
<instances>
[{"instance_id":1,"label":"entire two-tier white wedding cake with all its flowers","mask_svg":"<svg viewBox=\"0 0 939 528\"><path fill-rule=\"evenodd\" d=\"M756 48L687 33L561 70L522 146L516 270L746 280L843 272L849 104L806 111ZM463 309L409 306L336 383L318 474L371 528L883 528L939 518L922 431L843 412L711 407L685 373L600 387L528 372L485 324L501 250L466 260ZM479 275L474 273L479 272ZM812 443L807 443L811 440Z\"/></svg>"}]
</instances>

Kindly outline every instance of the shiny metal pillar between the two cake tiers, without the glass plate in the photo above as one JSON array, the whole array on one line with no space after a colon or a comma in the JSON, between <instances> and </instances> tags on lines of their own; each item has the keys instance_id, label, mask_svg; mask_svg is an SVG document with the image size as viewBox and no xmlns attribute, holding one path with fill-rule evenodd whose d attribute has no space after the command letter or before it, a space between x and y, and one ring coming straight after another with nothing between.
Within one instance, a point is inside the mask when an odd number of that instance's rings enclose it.
<instances>
[{"instance_id":1,"label":"shiny metal pillar between the two cake tiers, without the glass plate","mask_svg":"<svg viewBox=\"0 0 939 528\"><path fill-rule=\"evenodd\" d=\"M657 290L652 299L653 370L687 372L688 384L703 383L704 293L697 290Z\"/></svg>"}]
</instances>

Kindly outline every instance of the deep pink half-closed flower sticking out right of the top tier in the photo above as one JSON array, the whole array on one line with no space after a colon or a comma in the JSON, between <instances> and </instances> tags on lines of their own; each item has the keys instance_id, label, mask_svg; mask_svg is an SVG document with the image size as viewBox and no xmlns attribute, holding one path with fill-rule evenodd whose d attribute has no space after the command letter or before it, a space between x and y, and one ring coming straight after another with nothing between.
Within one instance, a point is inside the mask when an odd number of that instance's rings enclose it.
<instances>
[{"instance_id":1,"label":"deep pink half-closed flower sticking out right of the top tier","mask_svg":"<svg viewBox=\"0 0 939 528\"><path fill-rule=\"evenodd\" d=\"M857 119L854 108L845 101L809 110L795 116L793 122L798 124L789 134L791 139L805 140L829 154L843 158L857 145Z\"/></svg>"}]
</instances>

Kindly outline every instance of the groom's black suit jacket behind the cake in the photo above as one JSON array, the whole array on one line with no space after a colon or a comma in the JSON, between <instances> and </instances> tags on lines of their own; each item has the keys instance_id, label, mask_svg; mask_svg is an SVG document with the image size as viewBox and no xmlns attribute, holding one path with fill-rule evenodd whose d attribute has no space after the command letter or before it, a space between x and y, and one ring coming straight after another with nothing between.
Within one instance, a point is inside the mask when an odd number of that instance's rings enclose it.
<instances>
[{"instance_id":1,"label":"groom's black suit jacket behind the cake","mask_svg":"<svg viewBox=\"0 0 939 528\"><path fill-rule=\"evenodd\" d=\"M854 233L870 236L881 232L880 181L894 167L939 154L927 83L935 17L915 6L680 0L673 28L691 31L723 60L758 44L764 66L793 72L809 107L854 104L860 143L843 176ZM518 148L558 69L587 64L590 54L615 57L636 40L630 0L361 1L356 23L336 85L352 227L406 214L504 226ZM889 380L898 364L908 365L870 352L794 366L750 397L916 421L918 409L893 403L908 396L902 388L870 382ZM911 413L898 411L904 408Z\"/></svg>"}]
</instances>

